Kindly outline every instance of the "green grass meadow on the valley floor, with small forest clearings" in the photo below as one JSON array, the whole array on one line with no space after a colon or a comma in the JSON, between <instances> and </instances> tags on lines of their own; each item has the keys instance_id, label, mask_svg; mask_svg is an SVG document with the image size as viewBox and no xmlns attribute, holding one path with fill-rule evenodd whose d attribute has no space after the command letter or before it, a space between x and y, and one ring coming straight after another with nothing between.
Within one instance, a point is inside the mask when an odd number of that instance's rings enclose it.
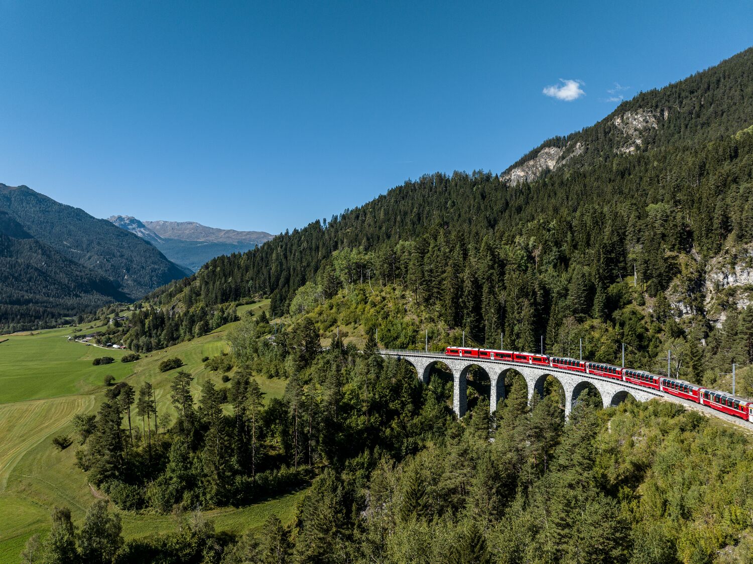
<instances>
[{"instance_id":1,"label":"green grass meadow on the valley floor, with small forest clearings","mask_svg":"<svg viewBox=\"0 0 753 564\"><path fill-rule=\"evenodd\" d=\"M268 307L265 300L242 306L239 312L251 309L258 314ZM151 382L160 415L174 416L169 399L174 371L160 373L157 364L164 358L181 358L181 370L194 376L195 398L208 378L218 387L229 386L221 383L218 373L206 370L201 359L227 350L225 336L232 326L126 364L117 361L123 351L69 342L71 328L0 337L0 341L8 339L0 343L0 564L19 561L26 539L49 527L54 505L66 505L74 521L80 522L94 501L85 474L74 465L76 446L59 452L50 441L56 434L72 435L71 419L76 413L96 412L105 375L112 374L117 382L126 381L136 388ZM90 325L81 329L90 330ZM105 355L116 362L93 366L93 358ZM260 378L259 384L267 398L279 398L285 392L283 380ZM248 508L208 511L206 515L218 531L242 532L261 526L270 514L291 521L301 495L294 492ZM167 532L176 526L175 520L165 515L121 512L121 517L126 538Z\"/></svg>"}]
</instances>

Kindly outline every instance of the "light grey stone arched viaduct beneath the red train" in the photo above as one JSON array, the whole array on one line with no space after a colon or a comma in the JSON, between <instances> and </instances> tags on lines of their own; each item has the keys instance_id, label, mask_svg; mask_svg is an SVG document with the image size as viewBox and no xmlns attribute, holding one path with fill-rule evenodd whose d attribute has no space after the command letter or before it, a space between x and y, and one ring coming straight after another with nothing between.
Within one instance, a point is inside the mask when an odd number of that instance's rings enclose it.
<instances>
[{"instance_id":1,"label":"light grey stone arched viaduct beneath the red train","mask_svg":"<svg viewBox=\"0 0 753 564\"><path fill-rule=\"evenodd\" d=\"M562 385L565 391L565 416L568 417L578 396L593 385L601 395L604 407L617 405L624 401L628 395L632 395L636 401L648 401L652 398L661 398L669 401L675 401L686 407L696 406L690 401L684 401L673 396L668 396L652 389L635 386L631 383L620 380L608 380L607 378L592 376L586 373L573 373L569 370L558 370L552 367L538 367L535 365L520 364L514 362L489 361L480 358L462 358L447 356L444 352L421 352L421 351L399 351L399 350L380 350L379 354L385 358L398 358L409 362L416 368L419 379L423 383L428 383L429 370L432 365L442 362L450 367L453 373L453 410L458 417L465 415L467 393L466 377L468 370L472 366L478 366L486 371L491 381L491 391L489 398L489 407L492 412L497 407L497 402L505 397L505 374L509 370L515 370L523 375L528 387L529 401L535 393L544 395L544 382L548 376L554 377ZM703 409L704 411L713 411ZM714 413L715 414L715 413ZM724 414L720 414L724 415ZM731 416L730 416L731 417ZM726 417L725 417L726 419ZM736 422L736 421L733 421ZM742 423L742 420L740 421Z\"/></svg>"}]
</instances>

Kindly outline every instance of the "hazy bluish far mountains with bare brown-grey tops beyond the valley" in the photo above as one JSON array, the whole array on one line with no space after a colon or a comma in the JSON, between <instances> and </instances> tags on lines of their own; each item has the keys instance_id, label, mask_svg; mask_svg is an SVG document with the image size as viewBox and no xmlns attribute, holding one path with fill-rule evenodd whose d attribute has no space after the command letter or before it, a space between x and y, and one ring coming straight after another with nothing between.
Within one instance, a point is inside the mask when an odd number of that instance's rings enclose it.
<instances>
[{"instance_id":1,"label":"hazy bluish far mountains with bare brown-grey tops beyond the valley","mask_svg":"<svg viewBox=\"0 0 753 564\"><path fill-rule=\"evenodd\" d=\"M246 252L272 239L264 231L218 229L196 221L139 221L130 215L113 215L108 221L146 239L170 261L193 272L212 258Z\"/></svg>"}]
</instances>

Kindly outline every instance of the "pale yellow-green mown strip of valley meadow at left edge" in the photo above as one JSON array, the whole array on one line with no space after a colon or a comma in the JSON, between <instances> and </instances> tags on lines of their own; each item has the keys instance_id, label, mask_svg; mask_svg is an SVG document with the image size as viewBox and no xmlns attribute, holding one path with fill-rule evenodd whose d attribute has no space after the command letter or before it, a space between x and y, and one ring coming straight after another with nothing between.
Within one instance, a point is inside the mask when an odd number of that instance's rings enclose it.
<instances>
[{"instance_id":1,"label":"pale yellow-green mown strip of valley meadow at left edge","mask_svg":"<svg viewBox=\"0 0 753 564\"><path fill-rule=\"evenodd\" d=\"M70 396L0 404L0 492L25 453L94 406L93 396Z\"/></svg>"}]
</instances>

